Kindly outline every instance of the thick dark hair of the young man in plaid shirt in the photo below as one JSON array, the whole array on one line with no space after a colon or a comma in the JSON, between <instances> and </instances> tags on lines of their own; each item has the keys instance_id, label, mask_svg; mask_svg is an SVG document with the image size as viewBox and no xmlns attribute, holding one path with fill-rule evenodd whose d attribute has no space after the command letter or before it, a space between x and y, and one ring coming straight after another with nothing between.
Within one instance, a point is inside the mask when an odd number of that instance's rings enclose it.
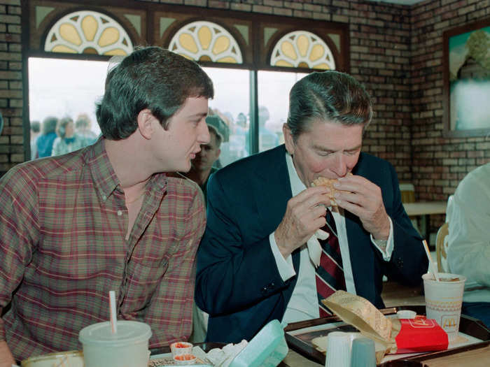
<instances>
[{"instance_id":1,"label":"thick dark hair of the young man in plaid shirt","mask_svg":"<svg viewBox=\"0 0 490 367\"><path fill-rule=\"evenodd\" d=\"M198 64L160 47L140 48L109 71L97 122L104 137L125 139L136 131L140 111L148 108L167 129L186 99L201 96L213 98L214 88Z\"/></svg>"}]
</instances>

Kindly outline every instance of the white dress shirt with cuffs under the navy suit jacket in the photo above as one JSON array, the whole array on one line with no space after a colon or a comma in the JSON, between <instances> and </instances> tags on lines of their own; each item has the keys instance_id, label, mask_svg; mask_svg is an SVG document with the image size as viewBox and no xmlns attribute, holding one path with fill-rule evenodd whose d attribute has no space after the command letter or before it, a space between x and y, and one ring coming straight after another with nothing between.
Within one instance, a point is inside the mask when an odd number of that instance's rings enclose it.
<instances>
[{"instance_id":1,"label":"white dress shirt with cuffs under the navy suit jacket","mask_svg":"<svg viewBox=\"0 0 490 367\"><path fill-rule=\"evenodd\" d=\"M293 164L293 159L287 152L286 164L288 166L291 192L293 196L296 196L306 189L306 187L297 175ZM338 209L338 212L332 211L332 216L335 220L335 226L337 226L342 264L344 266L346 291L356 294L356 286L354 285L351 258L349 254L349 243L347 243L344 210L342 208ZM372 236L371 241L373 245L381 252L384 260L389 261L391 259L391 253L393 252L393 224L391 219L390 234L386 243L386 250L383 251L376 243L374 243L374 238L372 238ZM282 280L286 281L295 276L296 272L293 268L293 258L291 255L289 255L286 259L284 259L281 252L279 252L279 248L277 247L274 232L269 235L269 242ZM309 258L307 246L303 245L300 250L300 269L297 275L296 286L293 290L293 295L290 298L282 321L287 323L297 322L305 319L314 319L319 317L319 315L318 298L316 295L315 267Z\"/></svg>"}]
</instances>

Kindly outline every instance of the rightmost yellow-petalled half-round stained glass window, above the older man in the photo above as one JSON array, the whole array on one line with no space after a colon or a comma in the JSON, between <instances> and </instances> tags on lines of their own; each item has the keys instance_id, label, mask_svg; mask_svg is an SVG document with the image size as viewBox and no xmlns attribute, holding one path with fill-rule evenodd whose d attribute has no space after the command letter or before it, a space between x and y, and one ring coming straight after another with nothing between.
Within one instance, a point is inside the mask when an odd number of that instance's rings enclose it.
<instances>
[{"instance_id":1,"label":"rightmost yellow-petalled half-round stained glass window, above the older man","mask_svg":"<svg viewBox=\"0 0 490 367\"><path fill-rule=\"evenodd\" d=\"M274 46L272 66L334 70L335 59L328 45L309 31L294 31L283 36Z\"/></svg>"}]
</instances>

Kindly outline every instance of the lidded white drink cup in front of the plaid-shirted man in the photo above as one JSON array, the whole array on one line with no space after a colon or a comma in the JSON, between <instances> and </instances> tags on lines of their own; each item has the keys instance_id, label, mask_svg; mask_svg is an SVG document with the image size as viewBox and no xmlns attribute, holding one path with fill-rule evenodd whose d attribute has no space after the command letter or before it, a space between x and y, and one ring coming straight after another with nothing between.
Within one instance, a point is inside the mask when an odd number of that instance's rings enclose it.
<instances>
[{"instance_id":1,"label":"lidded white drink cup in front of the plaid-shirted man","mask_svg":"<svg viewBox=\"0 0 490 367\"><path fill-rule=\"evenodd\" d=\"M80 330L85 367L148 367L151 328L144 322L118 321L112 333L110 322L99 322Z\"/></svg>"}]
</instances>

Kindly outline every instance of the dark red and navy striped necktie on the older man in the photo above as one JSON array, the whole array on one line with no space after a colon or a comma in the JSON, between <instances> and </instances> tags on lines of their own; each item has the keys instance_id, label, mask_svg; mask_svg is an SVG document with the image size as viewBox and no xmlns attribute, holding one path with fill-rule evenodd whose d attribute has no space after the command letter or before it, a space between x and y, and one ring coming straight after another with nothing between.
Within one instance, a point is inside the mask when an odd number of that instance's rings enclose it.
<instances>
[{"instance_id":1,"label":"dark red and navy striped necktie on the older man","mask_svg":"<svg viewBox=\"0 0 490 367\"><path fill-rule=\"evenodd\" d=\"M325 219L328 225L325 224L322 229L330 236L326 240L320 240L322 252L320 266L316 268L315 277L320 317L332 315L332 312L321 303L321 300L339 289L346 289L339 238L337 238L337 226L335 226L335 220L333 220L332 213L328 209Z\"/></svg>"}]
</instances>

